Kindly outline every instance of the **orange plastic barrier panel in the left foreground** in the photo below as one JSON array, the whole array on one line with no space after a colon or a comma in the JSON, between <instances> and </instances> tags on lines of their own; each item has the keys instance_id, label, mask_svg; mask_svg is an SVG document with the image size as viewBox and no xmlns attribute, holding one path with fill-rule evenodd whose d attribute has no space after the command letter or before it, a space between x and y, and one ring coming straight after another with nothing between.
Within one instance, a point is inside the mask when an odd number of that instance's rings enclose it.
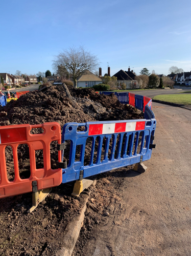
<instances>
[{"instance_id":1,"label":"orange plastic barrier panel in the left foreground","mask_svg":"<svg viewBox=\"0 0 191 256\"><path fill-rule=\"evenodd\" d=\"M42 128L43 133L31 134L32 128ZM28 193L32 191L32 182L37 181L38 190L55 187L61 184L62 169L51 169L50 143L58 141L61 144L61 129L58 123L44 123L42 125L9 125L0 126L0 198ZM18 168L17 147L27 144L30 152L31 176L20 179ZM14 181L7 176L5 148L11 146L13 150ZM35 150L43 149L44 167L36 169ZM61 162L61 151L58 151L58 161Z\"/></svg>"}]
</instances>

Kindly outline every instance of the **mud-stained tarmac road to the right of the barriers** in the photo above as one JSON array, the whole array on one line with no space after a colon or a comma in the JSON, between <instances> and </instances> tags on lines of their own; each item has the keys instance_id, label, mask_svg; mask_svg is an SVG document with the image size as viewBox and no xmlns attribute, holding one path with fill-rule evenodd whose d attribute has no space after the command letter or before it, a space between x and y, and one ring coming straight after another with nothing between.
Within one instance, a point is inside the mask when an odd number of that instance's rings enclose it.
<instances>
[{"instance_id":1,"label":"mud-stained tarmac road to the right of the barriers","mask_svg":"<svg viewBox=\"0 0 191 256\"><path fill-rule=\"evenodd\" d=\"M153 111L157 146L147 171L124 172L115 219L97 225L80 255L191 255L191 111L159 103Z\"/></svg>"}]
</instances>

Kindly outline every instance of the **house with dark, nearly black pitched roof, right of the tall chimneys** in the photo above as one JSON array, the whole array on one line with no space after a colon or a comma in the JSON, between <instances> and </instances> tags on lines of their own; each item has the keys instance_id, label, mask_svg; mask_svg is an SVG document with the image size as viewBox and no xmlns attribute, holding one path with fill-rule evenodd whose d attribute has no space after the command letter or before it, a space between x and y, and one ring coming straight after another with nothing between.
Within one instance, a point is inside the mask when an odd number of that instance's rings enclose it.
<instances>
[{"instance_id":1,"label":"house with dark, nearly black pitched roof, right of the tall chimneys","mask_svg":"<svg viewBox=\"0 0 191 256\"><path fill-rule=\"evenodd\" d=\"M123 83L126 84L126 88L137 87L138 82L135 80L135 73L133 70L128 68L128 71L120 70L115 73L113 76L117 77L117 86L122 85Z\"/></svg>"}]
</instances>

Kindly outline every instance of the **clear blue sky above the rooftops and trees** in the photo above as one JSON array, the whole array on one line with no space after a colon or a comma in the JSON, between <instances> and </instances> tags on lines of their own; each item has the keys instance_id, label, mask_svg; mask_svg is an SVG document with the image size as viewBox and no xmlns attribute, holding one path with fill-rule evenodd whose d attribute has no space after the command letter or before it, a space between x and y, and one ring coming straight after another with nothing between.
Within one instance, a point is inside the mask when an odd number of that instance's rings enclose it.
<instances>
[{"instance_id":1,"label":"clear blue sky above the rooftops and trees","mask_svg":"<svg viewBox=\"0 0 191 256\"><path fill-rule=\"evenodd\" d=\"M191 1L2 1L0 72L52 69L54 55L84 45L102 74L130 66L136 73L191 70Z\"/></svg>"}]
</instances>

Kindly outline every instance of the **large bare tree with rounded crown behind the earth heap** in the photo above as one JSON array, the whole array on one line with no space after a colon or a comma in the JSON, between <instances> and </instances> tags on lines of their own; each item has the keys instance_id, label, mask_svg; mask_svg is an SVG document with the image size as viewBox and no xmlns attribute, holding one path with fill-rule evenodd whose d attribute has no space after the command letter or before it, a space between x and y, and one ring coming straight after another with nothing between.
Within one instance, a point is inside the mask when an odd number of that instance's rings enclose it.
<instances>
[{"instance_id":1,"label":"large bare tree with rounded crown behind the earth heap","mask_svg":"<svg viewBox=\"0 0 191 256\"><path fill-rule=\"evenodd\" d=\"M73 75L74 86L77 87L77 78L88 70L95 71L98 67L98 57L91 54L83 46L79 48L69 47L55 56L53 68L64 67L69 74Z\"/></svg>"}]
</instances>

